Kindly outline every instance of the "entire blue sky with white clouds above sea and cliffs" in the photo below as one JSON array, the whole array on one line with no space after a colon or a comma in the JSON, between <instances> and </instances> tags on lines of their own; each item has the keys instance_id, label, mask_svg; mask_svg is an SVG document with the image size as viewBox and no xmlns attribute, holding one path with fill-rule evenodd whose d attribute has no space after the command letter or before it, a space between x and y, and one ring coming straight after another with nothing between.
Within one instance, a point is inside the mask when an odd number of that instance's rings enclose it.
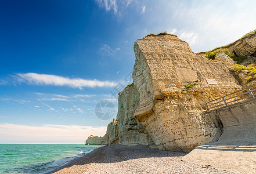
<instances>
[{"instance_id":1,"label":"entire blue sky with white clouds above sea and cliffs","mask_svg":"<svg viewBox=\"0 0 256 174\"><path fill-rule=\"evenodd\" d=\"M116 118L117 93L132 83L137 39L167 31L193 52L211 50L255 30L255 6L0 1L0 143L84 144L103 136Z\"/></svg>"}]
</instances>

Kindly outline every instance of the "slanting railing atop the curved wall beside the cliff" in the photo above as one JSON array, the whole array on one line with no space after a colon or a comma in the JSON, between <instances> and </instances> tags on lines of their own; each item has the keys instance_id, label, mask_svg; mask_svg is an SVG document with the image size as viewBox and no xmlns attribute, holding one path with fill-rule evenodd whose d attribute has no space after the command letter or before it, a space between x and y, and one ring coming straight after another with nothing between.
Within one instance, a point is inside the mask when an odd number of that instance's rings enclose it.
<instances>
[{"instance_id":1,"label":"slanting railing atop the curved wall beside the cliff","mask_svg":"<svg viewBox=\"0 0 256 174\"><path fill-rule=\"evenodd\" d=\"M238 90L237 92L219 97L218 99L211 100L210 102L206 103L207 110L216 110L218 108L230 106L235 103L240 103L244 102L245 100L255 98L256 93L253 93L254 91L256 91L256 85L250 86L246 89Z\"/></svg>"}]
</instances>

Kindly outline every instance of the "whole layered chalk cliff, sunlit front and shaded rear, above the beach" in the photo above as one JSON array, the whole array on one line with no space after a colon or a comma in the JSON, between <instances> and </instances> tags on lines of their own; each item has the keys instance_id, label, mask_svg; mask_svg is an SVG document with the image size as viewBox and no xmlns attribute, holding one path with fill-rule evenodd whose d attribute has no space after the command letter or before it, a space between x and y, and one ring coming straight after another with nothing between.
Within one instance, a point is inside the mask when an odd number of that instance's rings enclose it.
<instances>
[{"instance_id":1,"label":"whole layered chalk cliff, sunlit front and shaded rear, above the beach","mask_svg":"<svg viewBox=\"0 0 256 174\"><path fill-rule=\"evenodd\" d=\"M243 61L254 67L251 57L256 54L255 32L234 43L230 52L235 57L250 56L243 57ZM166 32L138 39L134 52L134 83L119 93L117 119L107 126L106 144L193 150L210 142L217 133L205 103L253 83L256 74L250 67L250 71L237 70L235 64L225 62L234 62L229 57L222 59L225 54L218 55L221 61L207 59L204 53L195 54L187 42Z\"/></svg>"}]
</instances>

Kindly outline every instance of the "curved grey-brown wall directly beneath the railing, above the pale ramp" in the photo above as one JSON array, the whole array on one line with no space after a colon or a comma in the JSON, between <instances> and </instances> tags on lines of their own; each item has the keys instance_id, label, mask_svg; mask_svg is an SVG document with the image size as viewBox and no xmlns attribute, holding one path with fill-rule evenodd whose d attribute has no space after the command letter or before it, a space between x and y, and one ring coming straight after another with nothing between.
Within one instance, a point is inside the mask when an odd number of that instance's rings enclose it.
<instances>
[{"instance_id":1,"label":"curved grey-brown wall directly beneath the railing, above the pale ramp","mask_svg":"<svg viewBox=\"0 0 256 174\"><path fill-rule=\"evenodd\" d=\"M211 111L210 115L221 121L218 143L252 139L256 143L256 98Z\"/></svg>"}]
</instances>

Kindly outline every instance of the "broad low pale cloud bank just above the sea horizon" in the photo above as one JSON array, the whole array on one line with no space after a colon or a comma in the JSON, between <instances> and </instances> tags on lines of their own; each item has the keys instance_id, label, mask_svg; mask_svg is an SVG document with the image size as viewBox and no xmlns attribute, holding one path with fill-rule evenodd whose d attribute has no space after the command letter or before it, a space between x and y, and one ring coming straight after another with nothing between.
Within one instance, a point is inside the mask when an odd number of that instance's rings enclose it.
<instances>
[{"instance_id":1,"label":"broad low pale cloud bank just above the sea horizon","mask_svg":"<svg viewBox=\"0 0 256 174\"><path fill-rule=\"evenodd\" d=\"M106 126L0 124L0 142L84 144L90 135L104 136L106 129Z\"/></svg>"}]
</instances>

